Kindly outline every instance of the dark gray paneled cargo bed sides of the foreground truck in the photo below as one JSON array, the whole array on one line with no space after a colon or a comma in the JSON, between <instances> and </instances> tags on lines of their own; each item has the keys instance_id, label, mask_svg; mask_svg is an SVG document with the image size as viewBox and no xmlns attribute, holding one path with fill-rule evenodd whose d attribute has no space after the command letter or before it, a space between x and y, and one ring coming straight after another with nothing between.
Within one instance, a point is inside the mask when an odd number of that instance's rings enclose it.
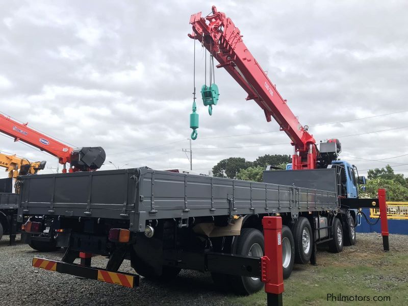
<instances>
[{"instance_id":1,"label":"dark gray paneled cargo bed sides of the foreground truck","mask_svg":"<svg viewBox=\"0 0 408 306\"><path fill-rule=\"evenodd\" d=\"M336 173L333 171L336 182ZM333 191L146 168L23 176L19 215L151 219L331 211Z\"/></svg>"}]
</instances>

